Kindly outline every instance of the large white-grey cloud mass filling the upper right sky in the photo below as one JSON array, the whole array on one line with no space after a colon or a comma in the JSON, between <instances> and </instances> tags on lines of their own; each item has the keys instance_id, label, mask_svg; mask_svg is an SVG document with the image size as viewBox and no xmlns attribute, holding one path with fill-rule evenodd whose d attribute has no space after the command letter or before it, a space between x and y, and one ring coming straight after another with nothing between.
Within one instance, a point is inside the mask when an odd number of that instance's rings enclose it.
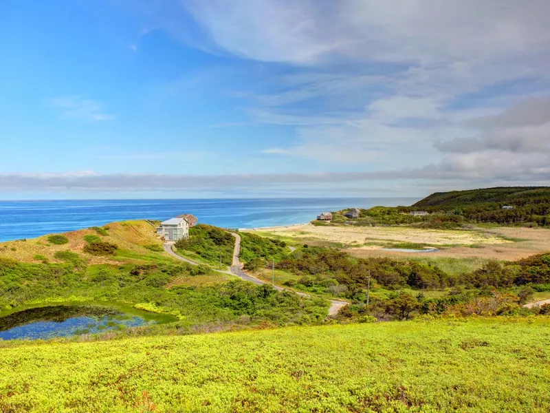
<instances>
[{"instance_id":1,"label":"large white-grey cloud mass filling the upper right sky","mask_svg":"<svg viewBox=\"0 0 550 413\"><path fill-rule=\"evenodd\" d=\"M254 123L294 130L265 154L417 179L548 179L547 0L179 4L208 34L194 39L203 50L285 68L235 93Z\"/></svg>"}]
</instances>

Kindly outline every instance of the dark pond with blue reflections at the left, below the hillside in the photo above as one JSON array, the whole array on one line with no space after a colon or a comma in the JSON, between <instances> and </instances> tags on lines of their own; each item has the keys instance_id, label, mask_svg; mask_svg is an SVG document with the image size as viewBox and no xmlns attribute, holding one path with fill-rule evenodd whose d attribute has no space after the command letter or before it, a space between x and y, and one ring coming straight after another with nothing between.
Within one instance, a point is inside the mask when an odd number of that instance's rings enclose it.
<instances>
[{"instance_id":1,"label":"dark pond with blue reflections at the left, below the hillside","mask_svg":"<svg viewBox=\"0 0 550 413\"><path fill-rule=\"evenodd\" d=\"M0 317L0 339L51 339L96 334L107 330L163 324L176 317L125 306L63 304L27 308Z\"/></svg>"}]
</instances>

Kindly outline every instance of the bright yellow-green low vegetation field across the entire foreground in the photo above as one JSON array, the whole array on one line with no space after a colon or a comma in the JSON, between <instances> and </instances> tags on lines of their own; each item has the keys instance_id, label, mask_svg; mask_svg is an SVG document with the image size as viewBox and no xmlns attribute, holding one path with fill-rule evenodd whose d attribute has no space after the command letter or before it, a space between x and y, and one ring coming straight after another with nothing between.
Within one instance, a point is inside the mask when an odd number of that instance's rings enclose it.
<instances>
[{"instance_id":1,"label":"bright yellow-green low vegetation field across the entire foreground","mask_svg":"<svg viewBox=\"0 0 550 413\"><path fill-rule=\"evenodd\" d=\"M548 412L550 321L283 328L0 348L1 412Z\"/></svg>"}]
</instances>

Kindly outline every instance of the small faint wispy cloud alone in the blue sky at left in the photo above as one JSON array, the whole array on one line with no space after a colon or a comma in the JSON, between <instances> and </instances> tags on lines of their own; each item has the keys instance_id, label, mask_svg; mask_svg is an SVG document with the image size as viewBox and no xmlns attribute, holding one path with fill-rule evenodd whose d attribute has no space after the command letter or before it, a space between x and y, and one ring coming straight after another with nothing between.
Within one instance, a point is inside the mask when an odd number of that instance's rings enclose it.
<instances>
[{"instance_id":1,"label":"small faint wispy cloud alone in the blue sky at left","mask_svg":"<svg viewBox=\"0 0 550 413\"><path fill-rule=\"evenodd\" d=\"M98 100L86 99L82 96L52 98L50 104L58 109L63 119L98 122L114 118L113 115L104 112L102 103Z\"/></svg>"}]
</instances>

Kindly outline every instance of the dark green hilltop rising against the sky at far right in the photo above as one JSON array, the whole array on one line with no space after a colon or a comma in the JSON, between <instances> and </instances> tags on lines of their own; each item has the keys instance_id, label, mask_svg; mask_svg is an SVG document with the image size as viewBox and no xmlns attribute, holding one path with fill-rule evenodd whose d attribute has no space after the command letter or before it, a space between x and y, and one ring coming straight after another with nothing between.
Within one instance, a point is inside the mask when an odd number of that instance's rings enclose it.
<instances>
[{"instance_id":1,"label":"dark green hilltop rising against the sky at far right","mask_svg":"<svg viewBox=\"0 0 550 413\"><path fill-rule=\"evenodd\" d=\"M549 200L550 187L498 187L436 192L413 204L412 207L458 207L486 203L522 206L529 202L549 202Z\"/></svg>"}]
</instances>

